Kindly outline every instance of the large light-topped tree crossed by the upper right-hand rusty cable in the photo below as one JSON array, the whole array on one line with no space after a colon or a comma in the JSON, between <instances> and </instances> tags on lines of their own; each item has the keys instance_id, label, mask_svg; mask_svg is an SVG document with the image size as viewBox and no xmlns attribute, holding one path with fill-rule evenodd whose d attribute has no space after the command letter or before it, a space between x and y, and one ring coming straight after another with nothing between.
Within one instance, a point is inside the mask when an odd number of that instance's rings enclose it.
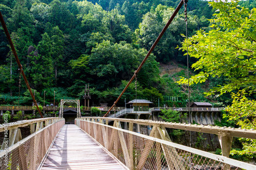
<instances>
[{"instance_id":1,"label":"large light-topped tree crossed by the upper right-hand rusty cable","mask_svg":"<svg viewBox=\"0 0 256 170\"><path fill-rule=\"evenodd\" d=\"M173 8L163 5L158 5L155 10L147 12L143 16L139 29L135 31L138 37L138 43L146 48L146 50L150 50L173 12ZM197 22L189 15L187 24L188 33L193 32L197 28ZM167 63L172 59L176 59L177 61L184 60L182 53L175 49L183 40L181 33L185 33L184 16L177 15L153 52L157 57L157 61Z\"/></svg>"}]
</instances>

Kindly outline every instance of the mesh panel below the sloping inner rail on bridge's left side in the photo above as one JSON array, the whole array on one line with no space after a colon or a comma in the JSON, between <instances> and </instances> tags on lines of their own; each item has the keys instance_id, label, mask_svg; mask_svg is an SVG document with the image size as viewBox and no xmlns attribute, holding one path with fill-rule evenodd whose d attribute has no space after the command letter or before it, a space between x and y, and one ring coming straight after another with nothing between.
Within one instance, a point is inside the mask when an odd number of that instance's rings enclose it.
<instances>
[{"instance_id":1,"label":"mesh panel below the sloping inner rail on bridge's left side","mask_svg":"<svg viewBox=\"0 0 256 170\"><path fill-rule=\"evenodd\" d=\"M0 170L37 169L64 124L65 119L62 119L1 150Z\"/></svg>"}]
</instances>

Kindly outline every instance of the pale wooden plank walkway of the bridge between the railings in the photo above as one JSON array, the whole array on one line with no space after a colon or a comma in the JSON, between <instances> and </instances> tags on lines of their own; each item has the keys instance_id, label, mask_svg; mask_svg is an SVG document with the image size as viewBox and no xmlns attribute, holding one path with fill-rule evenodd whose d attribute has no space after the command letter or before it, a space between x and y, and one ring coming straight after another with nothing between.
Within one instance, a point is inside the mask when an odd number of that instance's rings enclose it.
<instances>
[{"instance_id":1,"label":"pale wooden plank walkway of the bridge between the railings","mask_svg":"<svg viewBox=\"0 0 256 170\"><path fill-rule=\"evenodd\" d=\"M126 168L76 125L64 125L41 169Z\"/></svg>"}]
</instances>

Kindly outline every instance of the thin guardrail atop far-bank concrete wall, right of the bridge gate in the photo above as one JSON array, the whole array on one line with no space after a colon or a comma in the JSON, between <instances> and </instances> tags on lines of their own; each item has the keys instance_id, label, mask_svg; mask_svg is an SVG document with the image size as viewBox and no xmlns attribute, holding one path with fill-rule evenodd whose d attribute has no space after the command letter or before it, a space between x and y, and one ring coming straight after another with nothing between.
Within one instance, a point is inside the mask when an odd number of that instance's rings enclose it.
<instances>
[{"instance_id":1,"label":"thin guardrail atop far-bank concrete wall, right of the bridge gate","mask_svg":"<svg viewBox=\"0 0 256 170\"><path fill-rule=\"evenodd\" d=\"M188 107L153 107L150 108L150 112L154 110L160 110L160 109L166 109L166 110L176 110L176 111L189 111ZM209 111L209 112L216 112L224 110L224 107L210 107L210 108L197 108L197 107L190 107L190 111Z\"/></svg>"}]
</instances>

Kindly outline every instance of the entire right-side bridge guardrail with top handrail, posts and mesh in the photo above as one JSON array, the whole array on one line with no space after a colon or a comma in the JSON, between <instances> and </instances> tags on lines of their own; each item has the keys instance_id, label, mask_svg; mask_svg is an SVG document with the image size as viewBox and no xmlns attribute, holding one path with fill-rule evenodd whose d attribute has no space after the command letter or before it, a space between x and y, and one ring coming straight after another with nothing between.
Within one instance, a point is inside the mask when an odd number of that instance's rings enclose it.
<instances>
[{"instance_id":1,"label":"entire right-side bridge guardrail with top handrail, posts and mesh","mask_svg":"<svg viewBox=\"0 0 256 170\"><path fill-rule=\"evenodd\" d=\"M113 127L108 126L109 120L114 120ZM121 122L129 123L129 130L122 129ZM228 158L232 137L256 139L255 130L108 117L76 118L75 124L129 169L256 169L253 164ZM149 136L133 132L133 124L152 126L152 131ZM166 128L217 134L223 155L173 143Z\"/></svg>"}]
</instances>

